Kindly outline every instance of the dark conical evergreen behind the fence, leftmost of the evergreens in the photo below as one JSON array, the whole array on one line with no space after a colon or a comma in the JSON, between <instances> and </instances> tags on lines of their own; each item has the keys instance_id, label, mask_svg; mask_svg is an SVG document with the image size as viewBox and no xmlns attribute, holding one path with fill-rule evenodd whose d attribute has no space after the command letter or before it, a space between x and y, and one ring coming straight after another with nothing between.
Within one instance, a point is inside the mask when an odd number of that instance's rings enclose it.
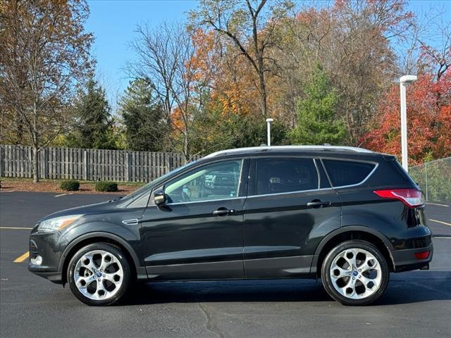
<instances>
[{"instance_id":1,"label":"dark conical evergreen behind the fence, leftmost of the evergreens","mask_svg":"<svg viewBox=\"0 0 451 338\"><path fill-rule=\"evenodd\" d=\"M80 89L74 108L74 132L68 146L87 149L115 149L111 108L105 90L92 77Z\"/></svg>"}]
</instances>

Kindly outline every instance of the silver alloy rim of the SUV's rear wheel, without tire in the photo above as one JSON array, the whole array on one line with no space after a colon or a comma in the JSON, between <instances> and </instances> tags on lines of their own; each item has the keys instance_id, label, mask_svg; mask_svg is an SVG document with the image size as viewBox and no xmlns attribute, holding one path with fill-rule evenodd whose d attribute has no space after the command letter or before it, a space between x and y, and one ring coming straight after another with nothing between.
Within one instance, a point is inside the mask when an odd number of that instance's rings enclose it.
<instances>
[{"instance_id":1,"label":"silver alloy rim of the SUV's rear wheel, without tire","mask_svg":"<svg viewBox=\"0 0 451 338\"><path fill-rule=\"evenodd\" d=\"M346 249L338 253L329 273L335 290L349 299L364 299L381 287L381 264L364 249Z\"/></svg>"}]
</instances>

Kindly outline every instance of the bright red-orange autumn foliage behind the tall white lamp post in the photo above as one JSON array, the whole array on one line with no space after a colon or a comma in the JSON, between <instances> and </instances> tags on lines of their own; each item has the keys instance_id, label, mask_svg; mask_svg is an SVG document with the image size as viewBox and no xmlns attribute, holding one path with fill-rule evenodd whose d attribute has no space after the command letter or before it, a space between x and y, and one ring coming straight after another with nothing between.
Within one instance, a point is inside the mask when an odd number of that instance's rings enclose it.
<instances>
[{"instance_id":1,"label":"bright red-orange autumn foliage behind the tall white lamp post","mask_svg":"<svg viewBox=\"0 0 451 338\"><path fill-rule=\"evenodd\" d=\"M393 84L379 104L379 118L362 146L383 153L401 154L400 86ZM420 75L407 87L409 164L451 156L451 75L436 81Z\"/></svg>"}]
</instances>

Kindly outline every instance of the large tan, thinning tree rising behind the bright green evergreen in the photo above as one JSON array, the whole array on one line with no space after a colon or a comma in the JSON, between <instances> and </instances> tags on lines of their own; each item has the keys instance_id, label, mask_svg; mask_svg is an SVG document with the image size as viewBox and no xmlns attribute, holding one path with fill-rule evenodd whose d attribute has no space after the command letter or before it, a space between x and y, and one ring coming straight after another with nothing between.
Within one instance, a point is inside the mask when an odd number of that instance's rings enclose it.
<instances>
[{"instance_id":1,"label":"large tan, thinning tree rising behind the bright green evergreen","mask_svg":"<svg viewBox=\"0 0 451 338\"><path fill-rule=\"evenodd\" d=\"M404 1L336 1L328 8L301 8L290 20L283 55L287 99L294 106L305 96L309 69L323 65L340 93L338 118L345 120L347 144L358 146L378 101L397 75L390 40L407 34L412 17ZM285 80L287 79L287 80ZM287 114L288 115L288 114Z\"/></svg>"}]
</instances>

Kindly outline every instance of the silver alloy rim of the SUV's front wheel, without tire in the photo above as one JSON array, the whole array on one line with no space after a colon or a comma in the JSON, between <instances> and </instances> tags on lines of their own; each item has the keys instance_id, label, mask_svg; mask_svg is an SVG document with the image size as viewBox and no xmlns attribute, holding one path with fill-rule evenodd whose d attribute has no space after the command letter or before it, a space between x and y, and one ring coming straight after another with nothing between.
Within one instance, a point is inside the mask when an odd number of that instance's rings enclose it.
<instances>
[{"instance_id":1,"label":"silver alloy rim of the SUV's front wheel, without tire","mask_svg":"<svg viewBox=\"0 0 451 338\"><path fill-rule=\"evenodd\" d=\"M78 291L87 298L95 301L109 299L121 289L123 268L112 253L89 251L75 265L73 279Z\"/></svg>"}]
</instances>

